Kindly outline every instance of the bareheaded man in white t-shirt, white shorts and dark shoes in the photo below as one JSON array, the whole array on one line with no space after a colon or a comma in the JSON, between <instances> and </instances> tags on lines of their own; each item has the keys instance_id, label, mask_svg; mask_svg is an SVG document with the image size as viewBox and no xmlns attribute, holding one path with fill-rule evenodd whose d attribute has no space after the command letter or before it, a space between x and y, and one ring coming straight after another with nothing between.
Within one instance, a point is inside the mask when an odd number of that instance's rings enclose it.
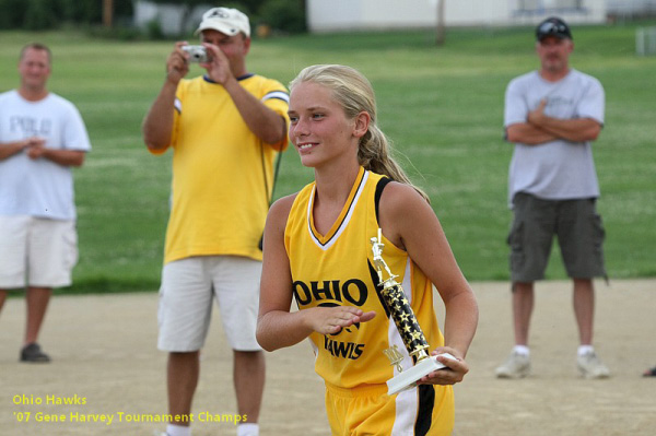
<instances>
[{"instance_id":1,"label":"bareheaded man in white t-shirt, white shorts and dark shoes","mask_svg":"<svg viewBox=\"0 0 656 436\"><path fill-rule=\"evenodd\" d=\"M72 166L91 150L78 109L50 93L51 54L21 51L21 85L0 94L0 309L26 287L21 362L49 362L37 343L52 287L71 284L78 261Z\"/></svg>"}]
</instances>

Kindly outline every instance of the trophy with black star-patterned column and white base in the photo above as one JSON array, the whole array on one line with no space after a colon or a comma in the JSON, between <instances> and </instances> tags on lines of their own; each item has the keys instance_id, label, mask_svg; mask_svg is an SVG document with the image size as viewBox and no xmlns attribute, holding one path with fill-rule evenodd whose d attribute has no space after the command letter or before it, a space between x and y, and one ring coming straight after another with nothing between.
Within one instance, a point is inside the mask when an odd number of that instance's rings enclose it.
<instances>
[{"instance_id":1,"label":"trophy with black star-patterned column and white base","mask_svg":"<svg viewBox=\"0 0 656 436\"><path fill-rule=\"evenodd\" d=\"M403 345L410 357L415 361L414 366L403 370L401 362L405 356L401 350L395 344L384 351L385 355L396 366L399 374L387 380L387 393L394 394L415 386L417 381L430 373L445 368L446 366L438 362L435 357L429 355L429 343L421 327L417 322L417 317L410 307L410 303L406 298L401 284L395 279L395 275L385 260L383 259L383 232L378 228L378 236L371 238L372 251L374 252L374 267L378 273L379 285L383 286L383 299L390 317L396 325ZM387 279L383 280L383 272L387 273ZM455 360L448 353L441 354L443 356Z\"/></svg>"}]
</instances>

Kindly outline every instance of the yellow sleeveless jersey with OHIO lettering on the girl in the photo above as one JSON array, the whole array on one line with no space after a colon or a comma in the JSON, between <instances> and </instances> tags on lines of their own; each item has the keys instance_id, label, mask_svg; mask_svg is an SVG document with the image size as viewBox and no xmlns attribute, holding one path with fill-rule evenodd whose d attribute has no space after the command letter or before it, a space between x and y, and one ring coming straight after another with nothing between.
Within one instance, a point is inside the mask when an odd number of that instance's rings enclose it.
<instances>
[{"instance_id":1,"label":"yellow sleeveless jersey with OHIO lettering on the girl","mask_svg":"<svg viewBox=\"0 0 656 436\"><path fill-rule=\"evenodd\" d=\"M290 259L293 293L301 310L323 306L354 306L376 317L337 334L313 333L315 369L329 385L355 388L385 384L396 367L383 350L397 345L403 368L412 366L401 337L389 319L373 268L370 239L377 236L376 185L383 176L360 168L349 199L327 235L313 224L314 182L298 192L288 219L284 243ZM431 350L444 338L433 309L432 284L408 254L383 237L383 258L398 275Z\"/></svg>"}]
</instances>

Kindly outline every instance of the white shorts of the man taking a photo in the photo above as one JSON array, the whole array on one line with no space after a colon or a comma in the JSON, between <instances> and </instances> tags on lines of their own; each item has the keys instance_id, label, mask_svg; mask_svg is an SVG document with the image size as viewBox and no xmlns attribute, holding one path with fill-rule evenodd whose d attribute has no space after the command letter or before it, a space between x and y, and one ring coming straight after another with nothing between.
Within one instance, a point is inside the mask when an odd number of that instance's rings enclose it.
<instances>
[{"instance_id":1,"label":"white shorts of the man taking a photo","mask_svg":"<svg viewBox=\"0 0 656 436\"><path fill-rule=\"evenodd\" d=\"M168 262L160 288L157 347L202 349L216 298L233 350L260 351L255 339L262 262L238 256L202 256Z\"/></svg>"}]
</instances>

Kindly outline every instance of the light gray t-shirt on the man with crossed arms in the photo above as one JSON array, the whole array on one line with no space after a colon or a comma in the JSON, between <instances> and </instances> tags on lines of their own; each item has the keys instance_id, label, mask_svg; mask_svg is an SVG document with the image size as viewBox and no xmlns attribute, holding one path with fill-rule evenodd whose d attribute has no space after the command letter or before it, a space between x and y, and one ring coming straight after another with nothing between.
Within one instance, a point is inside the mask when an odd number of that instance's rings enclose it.
<instances>
[{"instance_id":1,"label":"light gray t-shirt on the man with crossed arms","mask_svg":"<svg viewBox=\"0 0 656 436\"><path fill-rule=\"evenodd\" d=\"M537 71L520 75L505 94L504 127L526 122L528 113L547 99L544 115L559 119L593 118L604 123L605 95L599 81L574 69L558 82ZM599 197L590 142L557 140L515 144L508 173L508 202L527 192L548 200Z\"/></svg>"}]
</instances>

